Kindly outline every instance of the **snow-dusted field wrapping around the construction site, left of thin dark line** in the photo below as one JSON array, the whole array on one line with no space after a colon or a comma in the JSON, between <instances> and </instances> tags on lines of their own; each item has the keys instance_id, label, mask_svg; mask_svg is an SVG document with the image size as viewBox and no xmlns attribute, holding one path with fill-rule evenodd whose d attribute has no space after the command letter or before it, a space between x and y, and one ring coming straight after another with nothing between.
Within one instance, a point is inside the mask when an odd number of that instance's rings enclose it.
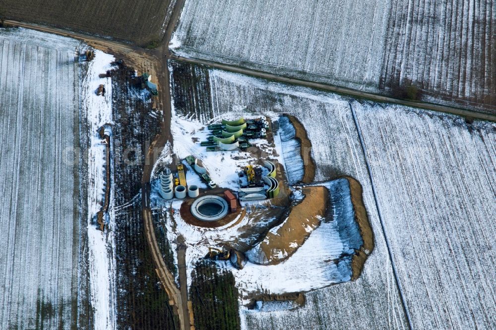
<instances>
[{"instance_id":1,"label":"snow-dusted field wrapping around the construction site, left of thin dark line","mask_svg":"<svg viewBox=\"0 0 496 330\"><path fill-rule=\"evenodd\" d=\"M332 94L218 70L210 70L209 76L213 118L221 118L227 112L233 117L256 113L277 117L290 113L310 127L316 180L327 181L345 174L358 179L364 188L364 202L375 234L374 252L358 280L311 291L307 293L305 307L292 311L258 312L242 308L243 328L407 328L348 101Z\"/></svg>"}]
</instances>

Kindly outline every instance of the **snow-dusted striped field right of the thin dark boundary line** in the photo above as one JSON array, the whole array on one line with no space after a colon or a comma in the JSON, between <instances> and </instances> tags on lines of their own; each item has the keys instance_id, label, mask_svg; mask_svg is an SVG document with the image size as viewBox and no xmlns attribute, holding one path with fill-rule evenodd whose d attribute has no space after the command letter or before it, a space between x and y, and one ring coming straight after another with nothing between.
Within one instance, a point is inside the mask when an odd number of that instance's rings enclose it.
<instances>
[{"instance_id":1,"label":"snow-dusted striped field right of the thin dark boundary line","mask_svg":"<svg viewBox=\"0 0 496 330\"><path fill-rule=\"evenodd\" d=\"M496 124L353 104L414 329L496 323Z\"/></svg>"}]
</instances>

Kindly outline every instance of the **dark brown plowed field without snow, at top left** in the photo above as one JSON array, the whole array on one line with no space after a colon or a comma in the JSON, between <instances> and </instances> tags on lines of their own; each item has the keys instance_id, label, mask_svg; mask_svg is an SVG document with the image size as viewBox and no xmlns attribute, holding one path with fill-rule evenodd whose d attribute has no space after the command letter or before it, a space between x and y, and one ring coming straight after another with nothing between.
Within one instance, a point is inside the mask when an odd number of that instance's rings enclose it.
<instances>
[{"instance_id":1,"label":"dark brown plowed field without snow, at top left","mask_svg":"<svg viewBox=\"0 0 496 330\"><path fill-rule=\"evenodd\" d=\"M8 19L48 24L146 46L160 41L176 0L3 0Z\"/></svg>"}]
</instances>

